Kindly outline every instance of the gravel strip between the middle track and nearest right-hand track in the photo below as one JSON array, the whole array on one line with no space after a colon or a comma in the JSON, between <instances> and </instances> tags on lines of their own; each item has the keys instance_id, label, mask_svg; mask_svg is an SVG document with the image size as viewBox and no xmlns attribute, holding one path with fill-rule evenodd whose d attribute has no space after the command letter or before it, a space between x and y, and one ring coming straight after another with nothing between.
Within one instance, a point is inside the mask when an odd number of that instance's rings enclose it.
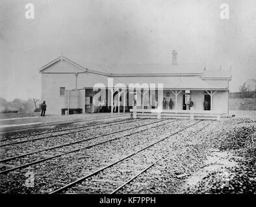
<instances>
[{"instance_id":1,"label":"gravel strip between the middle track and nearest right-hand track","mask_svg":"<svg viewBox=\"0 0 256 207\"><path fill-rule=\"evenodd\" d=\"M170 122L171 120L164 120ZM127 136L124 139L114 140L111 143L81 150L78 153L71 153L63 157L58 157L46 162L36 164L33 169L25 168L7 175L1 175L1 192L3 193L42 193L44 190L54 190L59 188L56 183L68 183L84 174L103 166L105 163L117 160L125 153L133 151L136 147L153 142L159 133L177 130L188 123L188 120L177 121L175 124L166 124L166 127L149 129L143 133ZM134 132L134 131L133 131ZM150 136L149 136L150 135ZM113 138L113 136L111 136ZM142 142L144 141L144 142ZM35 175L34 188L22 186L25 180L25 173L31 171ZM18 188L17 188L18 187Z\"/></svg>"}]
</instances>

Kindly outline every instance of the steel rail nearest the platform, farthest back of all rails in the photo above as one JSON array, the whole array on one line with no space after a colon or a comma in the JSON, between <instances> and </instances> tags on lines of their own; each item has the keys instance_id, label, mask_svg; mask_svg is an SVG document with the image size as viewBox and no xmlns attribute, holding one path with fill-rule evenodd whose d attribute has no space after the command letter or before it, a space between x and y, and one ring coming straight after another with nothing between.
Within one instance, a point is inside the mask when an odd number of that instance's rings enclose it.
<instances>
[{"instance_id":1,"label":"steel rail nearest the platform, farthest back of all rails","mask_svg":"<svg viewBox=\"0 0 256 207\"><path fill-rule=\"evenodd\" d=\"M122 120L116 120L116 121L113 121L113 122L105 122L105 123L92 124L92 125L84 125L84 126L79 126L79 127L70 127L68 129L57 129L55 131L45 131L45 132L42 132L42 133L35 133L35 134L31 134L31 135L16 136L16 137L13 137L13 138L5 138L3 140L0 140L0 142L5 142L5 141L8 141L8 140L16 140L18 138L25 138L25 137L28 137L28 136L38 136L38 135L45 135L45 134L49 134L49 133L57 133L58 131L68 131L68 130L72 130L72 129L81 129L81 128L94 127L96 125L101 125L101 124L111 124L111 123L116 123L116 122L124 122L125 120L130 120L130 118L126 118L126 119L122 119Z\"/></svg>"}]
</instances>

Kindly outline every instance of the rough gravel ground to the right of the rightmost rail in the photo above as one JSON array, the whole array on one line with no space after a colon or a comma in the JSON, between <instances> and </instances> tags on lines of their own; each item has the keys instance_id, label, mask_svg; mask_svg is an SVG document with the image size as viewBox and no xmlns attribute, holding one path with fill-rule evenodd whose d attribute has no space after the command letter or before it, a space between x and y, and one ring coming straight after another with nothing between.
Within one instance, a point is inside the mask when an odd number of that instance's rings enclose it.
<instances>
[{"instance_id":1,"label":"rough gravel ground to the right of the rightmost rail","mask_svg":"<svg viewBox=\"0 0 256 207\"><path fill-rule=\"evenodd\" d=\"M183 145L118 193L256 193L255 127L248 118L214 122L195 136L186 136ZM187 177L209 167L205 160L212 156L212 147L234 153L227 161L235 165L225 166L224 160L223 166L206 170L196 184L184 188Z\"/></svg>"}]
</instances>

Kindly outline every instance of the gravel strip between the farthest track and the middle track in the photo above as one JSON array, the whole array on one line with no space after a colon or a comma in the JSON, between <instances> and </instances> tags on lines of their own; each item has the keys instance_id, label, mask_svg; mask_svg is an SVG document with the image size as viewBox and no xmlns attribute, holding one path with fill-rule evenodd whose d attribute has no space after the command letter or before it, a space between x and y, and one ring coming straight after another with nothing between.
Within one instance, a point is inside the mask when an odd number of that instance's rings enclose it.
<instances>
[{"instance_id":1,"label":"gravel strip between the farthest track and the middle track","mask_svg":"<svg viewBox=\"0 0 256 207\"><path fill-rule=\"evenodd\" d=\"M77 149L80 147L103 142L105 140L109 140L110 138L114 138L115 136L118 136L118 135L120 136L120 133L116 133L111 136L105 136L109 133L115 133L115 132L127 129L127 131L122 132L122 135L124 135L125 133L131 133L134 130L131 128L139 127L140 125L144 125L144 124L152 124L152 123L154 123L154 120L134 120L134 122L125 122L123 124L118 124L118 125L115 124L107 127L96 126L96 127L93 127L93 129L89 129L89 130L81 131L77 133L71 133L68 135L49 137L49 138L44 138L40 140L35 140L32 142L25 142L25 143L15 144L11 146L5 146L5 147L1 147L3 150L3 153L1 153L3 157L1 158L3 159L8 157L13 157L15 155L16 156L22 155L23 153L31 153L39 149L47 149L49 147L55 147L63 144L68 144L70 142L77 142L79 140L84 140L84 142L79 142L77 144L72 144L72 145L63 146L57 149L43 151L40 153L29 155L24 158L17 158L16 160L11 160L6 162L6 164L20 165L28 162L29 160L32 162L32 161L38 160L39 158L45 158L45 156L48 157L50 155L56 155L56 153L60 153L60 152L63 153L63 152ZM101 137L98 137L98 136L101 136Z\"/></svg>"}]
</instances>

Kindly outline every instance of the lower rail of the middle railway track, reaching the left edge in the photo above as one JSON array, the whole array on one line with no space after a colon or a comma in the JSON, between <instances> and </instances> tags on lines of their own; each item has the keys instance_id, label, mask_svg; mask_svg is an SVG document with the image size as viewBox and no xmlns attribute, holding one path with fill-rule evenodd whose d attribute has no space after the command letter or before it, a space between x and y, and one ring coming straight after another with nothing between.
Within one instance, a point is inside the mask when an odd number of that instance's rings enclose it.
<instances>
[{"instance_id":1,"label":"lower rail of the middle railway track, reaching the left edge","mask_svg":"<svg viewBox=\"0 0 256 207\"><path fill-rule=\"evenodd\" d=\"M162 121L164 121L164 120L160 120L160 121L158 121L158 122L162 122ZM155 123L158 123L158 122L154 122L154 123L150 123L150 124L155 124ZM172 122L174 122L174 121L172 121ZM164 123L164 124L170 124L170 123L172 123L172 122L167 122L167 123ZM162 124L162 125L164 125L164 124ZM149 125L149 124L145 124L145 125ZM138 126L138 127L142 127L142 126L144 126L144 125L140 125L140 126ZM153 127L159 127L159 126L160 126L160 125L156 125L156 126L153 126ZM134 127L134 128L138 128L138 127ZM78 148L78 149L73 149L73 150L68 151L68 152L66 152L66 153L61 153L61 154L59 154L59 155L53 155L53 156L51 156L51 157L47 157L47 158L43 158L43 159L40 159L40 160L36 160L36 161L30 162L30 163L28 163L28 164L23 164L23 165L20 165L20 166L16 166L16 167L14 167L14 168L6 169L6 170L4 170L4 171L0 171L0 174L8 173L8 172L10 172L10 171L14 171L15 169L26 168L26 167L28 167L28 166L32 166L32 165L34 165L34 164L38 164L38 163L44 162L44 161L46 161L46 160L50 160L50 159L53 159L53 158L56 158L56 157L60 157L60 156L62 156L62 155L67 155L67 154L70 154L70 153L74 153L74 152L80 151L81 149L88 149L88 148L90 148L90 147L98 146L98 145L100 145L100 144L105 144L105 143L107 143L107 142L112 142L113 140L117 140L117 139L123 138L123 137L125 137L125 136L131 136L131 135L134 135L135 133L140 133L140 132L142 132L142 131L146 131L146 130L148 130L148 129L152 129L153 127L149 127L149 128L147 128L147 129L142 129L142 130L136 131L136 132L134 132L134 133L129 133L128 135L118 136L118 137L116 137L116 138L112 138L112 139L107 140L107 141L104 141L104 142L99 142L99 143L97 143L97 144L92 144L92 145L90 145L90 146L81 147L81 148ZM130 129L134 129L134 128L130 128ZM125 129L125 130L130 130L130 129ZM123 131L125 131L125 130L123 130ZM114 133L110 133L110 134L114 134ZM106 136L106 135L103 135L103 136ZM62 146L61 146L61 147L62 147Z\"/></svg>"}]
</instances>

